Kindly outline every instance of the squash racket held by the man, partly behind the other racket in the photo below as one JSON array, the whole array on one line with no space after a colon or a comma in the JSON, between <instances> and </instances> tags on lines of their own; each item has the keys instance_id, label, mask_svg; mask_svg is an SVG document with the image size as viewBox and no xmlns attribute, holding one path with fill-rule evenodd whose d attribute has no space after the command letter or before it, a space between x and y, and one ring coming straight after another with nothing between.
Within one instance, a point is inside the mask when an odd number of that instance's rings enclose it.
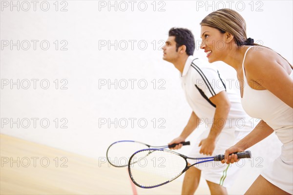
<instances>
[{"instance_id":1,"label":"squash racket held by the man, partly behind the other racket","mask_svg":"<svg viewBox=\"0 0 293 195\"><path fill-rule=\"evenodd\" d=\"M181 142L181 144L190 145L190 142ZM136 151L148 148L174 148L176 145L178 144L171 144L166 146L150 146L139 141L116 141L108 147L106 157L108 162L114 167L126 167L128 165L128 160L130 156ZM132 163L135 163L135 161L133 161Z\"/></svg>"}]
</instances>

